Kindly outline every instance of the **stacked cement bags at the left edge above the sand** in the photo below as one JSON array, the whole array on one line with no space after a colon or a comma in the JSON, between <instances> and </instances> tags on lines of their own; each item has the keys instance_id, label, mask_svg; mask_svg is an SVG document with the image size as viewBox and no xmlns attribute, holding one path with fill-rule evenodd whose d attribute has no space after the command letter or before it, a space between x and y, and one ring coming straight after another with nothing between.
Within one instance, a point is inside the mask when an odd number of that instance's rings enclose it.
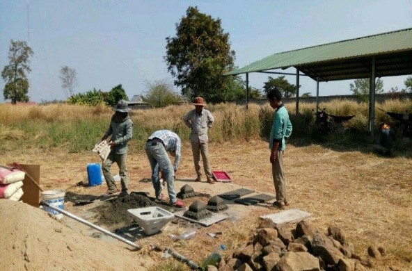
<instances>
[{"instance_id":1,"label":"stacked cement bags at the left edge above the sand","mask_svg":"<svg viewBox=\"0 0 412 271\"><path fill-rule=\"evenodd\" d=\"M17 202L23 195L24 172L0 165L0 199Z\"/></svg>"}]
</instances>

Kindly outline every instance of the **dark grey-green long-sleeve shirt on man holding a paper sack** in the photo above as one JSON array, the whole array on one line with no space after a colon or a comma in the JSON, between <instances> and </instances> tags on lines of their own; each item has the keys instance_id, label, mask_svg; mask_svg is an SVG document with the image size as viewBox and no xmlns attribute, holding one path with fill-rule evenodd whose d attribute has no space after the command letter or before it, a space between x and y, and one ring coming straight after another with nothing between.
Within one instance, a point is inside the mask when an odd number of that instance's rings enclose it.
<instances>
[{"instance_id":1,"label":"dark grey-green long-sleeve shirt on man holding a paper sack","mask_svg":"<svg viewBox=\"0 0 412 271\"><path fill-rule=\"evenodd\" d=\"M114 151L116 154L126 154L127 153L127 142L132 139L133 135L133 122L129 116L118 122L116 120L116 114L111 117L111 122L105 137L111 135L111 141L114 142Z\"/></svg>"}]
</instances>

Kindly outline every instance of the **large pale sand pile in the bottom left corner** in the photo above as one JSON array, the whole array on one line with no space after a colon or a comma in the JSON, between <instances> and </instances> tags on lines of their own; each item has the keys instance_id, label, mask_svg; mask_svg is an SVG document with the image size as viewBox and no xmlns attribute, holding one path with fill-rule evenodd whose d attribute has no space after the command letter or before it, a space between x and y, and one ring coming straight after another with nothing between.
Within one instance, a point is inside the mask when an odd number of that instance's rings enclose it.
<instances>
[{"instance_id":1,"label":"large pale sand pile in the bottom left corner","mask_svg":"<svg viewBox=\"0 0 412 271\"><path fill-rule=\"evenodd\" d=\"M95 240L22 202L0 200L0 227L1 270L145 270L153 264L125 243Z\"/></svg>"}]
</instances>

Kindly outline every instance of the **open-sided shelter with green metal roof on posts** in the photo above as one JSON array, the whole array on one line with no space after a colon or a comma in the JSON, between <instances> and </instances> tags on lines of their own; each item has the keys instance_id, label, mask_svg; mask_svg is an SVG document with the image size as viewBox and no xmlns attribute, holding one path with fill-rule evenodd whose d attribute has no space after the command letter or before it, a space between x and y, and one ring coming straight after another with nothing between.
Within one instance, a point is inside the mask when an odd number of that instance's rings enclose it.
<instances>
[{"instance_id":1,"label":"open-sided shelter with green metal roof on posts","mask_svg":"<svg viewBox=\"0 0 412 271\"><path fill-rule=\"evenodd\" d=\"M233 69L224 75L246 74L246 92L248 92L249 73L294 75L271 71L290 67L296 68L297 114L299 113L299 76L301 75L309 76L317 81L318 97L319 82L369 78L370 90L374 90L376 77L412 74L412 28L285 51L267 56L239 69ZM369 99L371 136L374 132L374 93L370 91Z\"/></svg>"}]
</instances>

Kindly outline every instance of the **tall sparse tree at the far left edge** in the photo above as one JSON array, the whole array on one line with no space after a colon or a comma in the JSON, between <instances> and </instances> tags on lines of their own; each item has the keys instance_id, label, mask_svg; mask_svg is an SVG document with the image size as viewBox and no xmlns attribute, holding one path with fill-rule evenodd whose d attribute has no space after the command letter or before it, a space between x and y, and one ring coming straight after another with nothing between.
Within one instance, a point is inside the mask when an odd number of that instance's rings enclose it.
<instances>
[{"instance_id":1,"label":"tall sparse tree at the far left edge","mask_svg":"<svg viewBox=\"0 0 412 271\"><path fill-rule=\"evenodd\" d=\"M17 101L29 101L29 81L26 73L31 72L30 57L33 50L23 41L10 41L8 60L10 61L1 72L1 77L6 82L4 85L4 99L11 99L12 104Z\"/></svg>"}]
</instances>

